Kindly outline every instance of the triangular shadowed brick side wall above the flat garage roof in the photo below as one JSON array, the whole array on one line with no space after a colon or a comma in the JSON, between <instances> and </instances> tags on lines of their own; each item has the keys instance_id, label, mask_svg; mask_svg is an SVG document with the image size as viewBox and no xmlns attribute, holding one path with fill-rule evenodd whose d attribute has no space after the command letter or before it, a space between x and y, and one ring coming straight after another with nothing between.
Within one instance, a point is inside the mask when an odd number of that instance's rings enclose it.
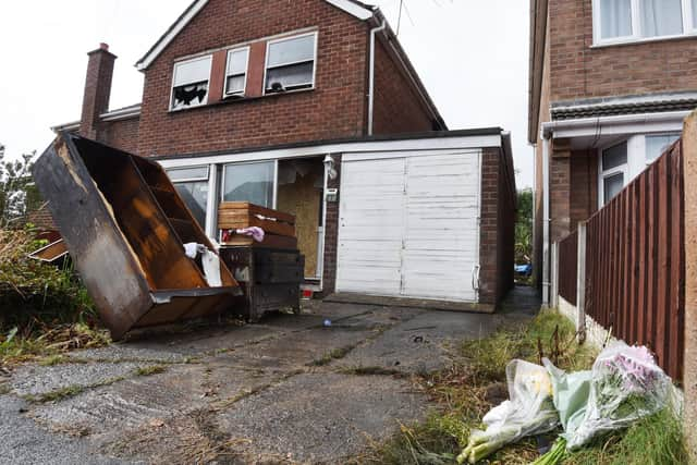
<instances>
[{"instance_id":1,"label":"triangular shadowed brick side wall above the flat garage roof","mask_svg":"<svg viewBox=\"0 0 697 465\"><path fill-rule=\"evenodd\" d=\"M374 134L432 130L431 118L384 45L376 40Z\"/></svg>"}]
</instances>

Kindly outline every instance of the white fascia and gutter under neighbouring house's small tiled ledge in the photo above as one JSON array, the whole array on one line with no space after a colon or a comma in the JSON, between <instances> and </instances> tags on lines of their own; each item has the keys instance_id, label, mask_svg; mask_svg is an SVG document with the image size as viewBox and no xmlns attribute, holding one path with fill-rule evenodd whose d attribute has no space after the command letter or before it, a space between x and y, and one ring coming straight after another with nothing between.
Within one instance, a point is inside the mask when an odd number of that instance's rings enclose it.
<instances>
[{"instance_id":1,"label":"white fascia and gutter under neighbouring house's small tiled ledge","mask_svg":"<svg viewBox=\"0 0 697 465\"><path fill-rule=\"evenodd\" d=\"M689 111L670 111L552 121L542 123L542 138L545 135L552 135L553 138L568 138L682 131L683 120L689 113Z\"/></svg>"}]
</instances>

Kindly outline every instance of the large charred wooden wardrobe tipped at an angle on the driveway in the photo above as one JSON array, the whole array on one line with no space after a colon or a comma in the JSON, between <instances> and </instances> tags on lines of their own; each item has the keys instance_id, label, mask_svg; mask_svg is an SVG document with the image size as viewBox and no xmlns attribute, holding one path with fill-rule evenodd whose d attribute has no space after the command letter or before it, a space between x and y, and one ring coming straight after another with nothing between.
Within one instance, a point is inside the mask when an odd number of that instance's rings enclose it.
<instances>
[{"instance_id":1,"label":"large charred wooden wardrobe tipped at an angle on the driveway","mask_svg":"<svg viewBox=\"0 0 697 465\"><path fill-rule=\"evenodd\" d=\"M184 254L184 242L212 245L157 163L63 133L34 178L114 339L211 315L241 293L222 261L223 285L211 287ZM174 220L191 228L182 232Z\"/></svg>"}]
</instances>

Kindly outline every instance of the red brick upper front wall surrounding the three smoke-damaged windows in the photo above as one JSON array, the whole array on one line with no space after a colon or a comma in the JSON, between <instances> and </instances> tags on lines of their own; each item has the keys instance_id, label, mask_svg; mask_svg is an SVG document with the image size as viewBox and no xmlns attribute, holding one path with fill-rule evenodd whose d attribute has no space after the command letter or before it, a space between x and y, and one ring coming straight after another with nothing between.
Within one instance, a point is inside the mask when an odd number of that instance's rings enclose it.
<instances>
[{"instance_id":1,"label":"red brick upper front wall surrounding the three smoke-damaged windows","mask_svg":"<svg viewBox=\"0 0 697 465\"><path fill-rule=\"evenodd\" d=\"M174 60L318 27L316 89L169 112ZM364 135L368 26L323 1L211 0L145 73L138 152L195 154Z\"/></svg>"}]
</instances>

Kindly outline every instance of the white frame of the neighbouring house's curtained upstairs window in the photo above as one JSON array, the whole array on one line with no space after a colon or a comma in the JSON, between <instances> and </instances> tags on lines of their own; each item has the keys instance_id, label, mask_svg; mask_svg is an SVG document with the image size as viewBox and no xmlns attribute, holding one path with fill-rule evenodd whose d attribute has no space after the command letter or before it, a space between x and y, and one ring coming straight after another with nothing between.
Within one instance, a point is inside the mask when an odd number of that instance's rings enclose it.
<instances>
[{"instance_id":1,"label":"white frame of the neighbouring house's curtained upstairs window","mask_svg":"<svg viewBox=\"0 0 697 465\"><path fill-rule=\"evenodd\" d=\"M645 37L641 30L640 1L631 0L632 9L632 34L623 37L602 38L601 36L601 0L592 0L592 41L594 46L633 44L644 41L656 41L667 39L677 39L689 36L697 36L697 24L693 24L692 0L681 0L683 14L683 32L682 34L672 34L668 36Z\"/></svg>"}]
</instances>

